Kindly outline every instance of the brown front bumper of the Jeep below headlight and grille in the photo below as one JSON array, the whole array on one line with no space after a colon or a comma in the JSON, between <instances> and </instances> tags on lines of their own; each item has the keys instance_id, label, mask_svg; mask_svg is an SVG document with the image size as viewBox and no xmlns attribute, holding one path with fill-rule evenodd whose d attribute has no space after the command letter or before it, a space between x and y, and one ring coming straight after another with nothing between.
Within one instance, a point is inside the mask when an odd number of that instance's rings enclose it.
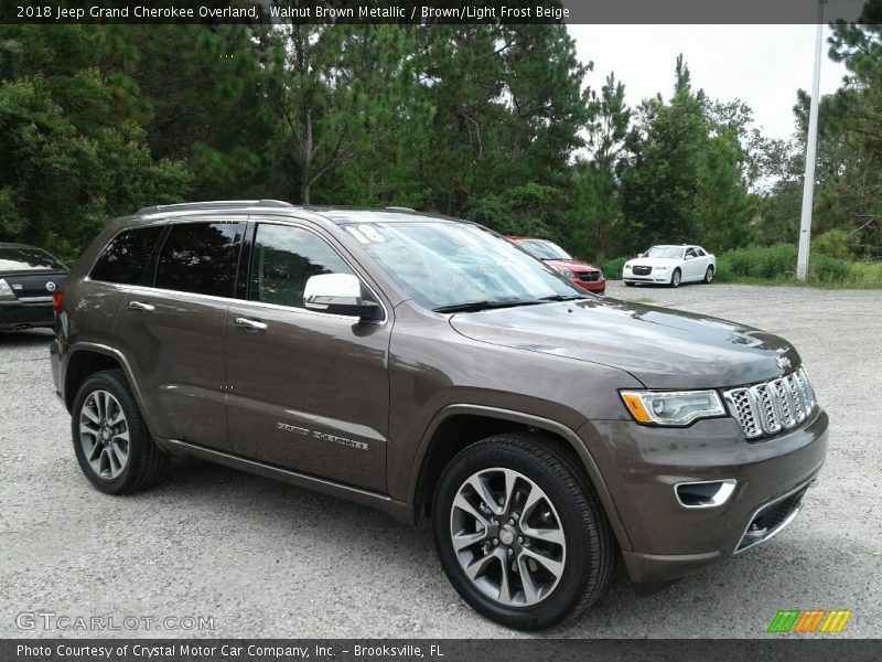
<instances>
[{"instance_id":1,"label":"brown front bumper of the Jeep below headlight and grille","mask_svg":"<svg viewBox=\"0 0 882 662\"><path fill-rule=\"evenodd\" d=\"M827 414L819 407L794 430L745 441L732 418L688 428L598 421L580 430L615 503L632 581L668 581L768 540L802 505L827 455ZM714 508L688 509L684 482L735 480ZM753 531L749 531L753 525Z\"/></svg>"}]
</instances>

